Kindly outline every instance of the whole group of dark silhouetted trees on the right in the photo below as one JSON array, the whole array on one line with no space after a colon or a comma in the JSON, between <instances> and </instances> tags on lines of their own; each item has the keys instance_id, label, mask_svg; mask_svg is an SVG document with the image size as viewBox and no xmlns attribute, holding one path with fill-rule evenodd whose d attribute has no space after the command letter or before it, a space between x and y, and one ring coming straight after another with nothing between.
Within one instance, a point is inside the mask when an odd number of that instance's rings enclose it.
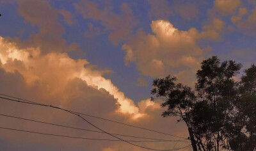
<instances>
[{"instance_id":1,"label":"whole group of dark silhouetted trees on the right","mask_svg":"<svg viewBox=\"0 0 256 151\"><path fill-rule=\"evenodd\" d=\"M234 81L241 67L212 56L196 72L194 89L176 77L154 79L152 100L163 100L162 116L178 116L192 129L198 150L255 150L256 67Z\"/></svg>"}]
</instances>

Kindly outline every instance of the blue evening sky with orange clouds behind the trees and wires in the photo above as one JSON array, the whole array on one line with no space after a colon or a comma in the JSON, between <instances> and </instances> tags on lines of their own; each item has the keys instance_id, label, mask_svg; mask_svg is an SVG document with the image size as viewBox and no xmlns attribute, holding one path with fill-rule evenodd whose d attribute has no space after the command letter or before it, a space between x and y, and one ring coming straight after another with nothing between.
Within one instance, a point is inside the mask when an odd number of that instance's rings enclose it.
<instances>
[{"instance_id":1,"label":"blue evening sky with orange clouds behind the trees and wires","mask_svg":"<svg viewBox=\"0 0 256 151\"><path fill-rule=\"evenodd\" d=\"M0 13L0 93L184 138L188 137L186 125L177 123L175 117L161 117L163 101L150 102L153 79L171 75L193 88L200 63L210 56L218 56L221 61L236 60L243 64L243 70L255 63L253 0L1 0ZM56 109L4 100L0 104L0 114L93 129L74 115ZM107 132L177 139L95 118L88 120ZM0 116L0 125L115 139L6 116ZM136 144L159 150L188 145ZM145 149L120 141L0 129L0 150Z\"/></svg>"}]
</instances>

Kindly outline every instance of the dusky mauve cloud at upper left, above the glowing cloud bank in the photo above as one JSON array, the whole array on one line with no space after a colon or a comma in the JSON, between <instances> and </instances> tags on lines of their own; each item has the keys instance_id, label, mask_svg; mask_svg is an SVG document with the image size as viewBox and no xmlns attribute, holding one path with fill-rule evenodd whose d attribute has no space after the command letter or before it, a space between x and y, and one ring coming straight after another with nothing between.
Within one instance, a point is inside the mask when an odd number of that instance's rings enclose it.
<instances>
[{"instance_id":1,"label":"dusky mauve cloud at upper left, above the glowing cloud bank","mask_svg":"<svg viewBox=\"0 0 256 151\"><path fill-rule=\"evenodd\" d=\"M58 10L52 8L47 1L42 0L18 0L19 14L25 22L38 26L38 33L29 36L26 42L20 42L20 48L40 47L42 54L48 52L68 52L78 49L76 43L67 45L61 36L65 32L63 26L57 21ZM67 13L67 12L65 12ZM67 15L67 14L66 14ZM67 18L66 18L67 19Z\"/></svg>"}]
</instances>

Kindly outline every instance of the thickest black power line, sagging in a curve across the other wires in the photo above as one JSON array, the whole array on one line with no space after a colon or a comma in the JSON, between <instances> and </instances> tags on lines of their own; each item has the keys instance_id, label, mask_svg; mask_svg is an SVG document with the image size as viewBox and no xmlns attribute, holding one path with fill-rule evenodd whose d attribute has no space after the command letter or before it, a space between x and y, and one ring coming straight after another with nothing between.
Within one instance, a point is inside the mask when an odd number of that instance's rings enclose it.
<instances>
[{"instance_id":1,"label":"thickest black power line, sagging in a curve across the other wires","mask_svg":"<svg viewBox=\"0 0 256 151\"><path fill-rule=\"evenodd\" d=\"M63 111L67 111L68 113L71 113L73 115L76 115L76 116L79 116L80 118L82 118L85 122L89 123L90 125L92 125L93 127L95 127L96 129L99 129L100 131L108 134L109 136L113 136L114 138L117 138L117 139L120 139L126 143L129 143L131 145L134 145L136 147L140 147L140 148L145 148L145 149L148 149L148 150L158 150L158 151L167 151L167 150L159 150L159 149L154 149L154 148L148 148L148 147L143 147L143 146L140 146L140 145L136 145L134 143L131 143L129 141L126 141L125 139L122 139L122 138L118 138L117 136L113 135L113 134L109 134L108 132L100 129L99 127L97 127L96 125L94 125L93 123L89 122L88 120L86 120L85 118L83 118L83 116L79 115L78 113L74 113L73 111L70 111L70 110L67 110L67 109L63 109L61 107L56 107L56 106L52 106L52 105L47 105L47 104L38 104L37 102L33 103L33 102L24 102L22 100L13 100L13 99L8 99L8 98L4 98L4 97L0 97L1 99L6 99L6 100L12 100L14 102L22 102L22 103L25 103L25 104L33 104L33 105L36 105L36 106L45 106L45 107L52 107L52 108L56 108L56 109L60 109L60 110L63 110ZM173 150L178 150L178 149L173 149Z\"/></svg>"}]
</instances>

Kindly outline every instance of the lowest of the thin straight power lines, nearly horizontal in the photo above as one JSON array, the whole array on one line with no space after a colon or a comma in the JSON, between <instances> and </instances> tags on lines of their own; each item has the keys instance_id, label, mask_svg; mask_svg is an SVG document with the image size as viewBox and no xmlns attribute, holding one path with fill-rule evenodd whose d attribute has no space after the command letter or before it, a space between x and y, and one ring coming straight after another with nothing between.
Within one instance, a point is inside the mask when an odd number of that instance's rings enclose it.
<instances>
[{"instance_id":1,"label":"lowest of the thin straight power lines, nearly horizontal","mask_svg":"<svg viewBox=\"0 0 256 151\"><path fill-rule=\"evenodd\" d=\"M11 129L11 128L7 128L7 127L0 127L0 129L8 129L8 130L20 131L20 132L29 132L29 133L34 133L34 134L43 134L43 135L47 135L47 136L58 136L58 137L63 137L63 138L89 139L89 140L96 140L96 141L121 141L118 139L82 138L82 137L76 137L76 136L67 136L67 135L50 134L50 133L44 133L44 132L26 131L26 130L21 130L21 129ZM130 142L156 142L156 141L134 141L134 140L131 140Z\"/></svg>"}]
</instances>

